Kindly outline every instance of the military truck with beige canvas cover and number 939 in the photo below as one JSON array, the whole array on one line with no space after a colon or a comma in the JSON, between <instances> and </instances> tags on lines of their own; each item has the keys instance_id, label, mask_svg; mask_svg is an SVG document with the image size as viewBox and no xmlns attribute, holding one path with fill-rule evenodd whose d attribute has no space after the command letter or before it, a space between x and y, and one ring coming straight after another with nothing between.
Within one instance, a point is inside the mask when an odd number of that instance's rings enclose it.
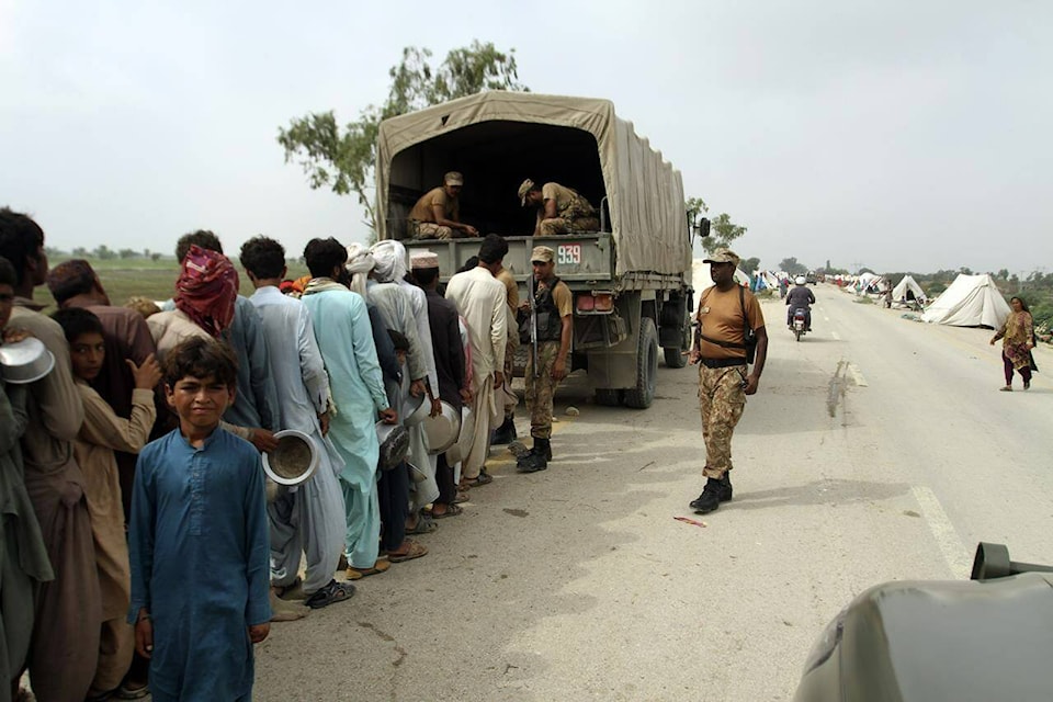
<instances>
[{"instance_id":1,"label":"military truck with beige canvas cover and number 939","mask_svg":"<svg viewBox=\"0 0 1053 702\"><path fill-rule=\"evenodd\" d=\"M385 120L380 238L403 240L410 253L437 252L442 280L477 254L480 241L410 238L409 211L446 171L464 174L461 220L507 239L505 267L522 299L533 247L555 251L556 274L575 299L571 369L587 371L596 400L649 407L659 348L666 365L679 369L691 341L692 231L680 172L607 100L494 91ZM599 230L531 236L536 210L517 195L526 178L578 191L599 211Z\"/></svg>"}]
</instances>

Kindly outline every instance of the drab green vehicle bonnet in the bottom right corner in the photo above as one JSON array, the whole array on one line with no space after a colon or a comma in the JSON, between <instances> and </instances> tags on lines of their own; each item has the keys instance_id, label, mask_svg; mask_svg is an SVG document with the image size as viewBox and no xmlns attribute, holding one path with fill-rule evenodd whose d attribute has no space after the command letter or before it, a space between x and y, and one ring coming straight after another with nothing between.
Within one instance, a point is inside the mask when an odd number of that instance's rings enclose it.
<instances>
[{"instance_id":1,"label":"drab green vehicle bonnet in the bottom right corner","mask_svg":"<svg viewBox=\"0 0 1053 702\"><path fill-rule=\"evenodd\" d=\"M856 598L805 663L794 702L1049 700L1053 568L981 543L967 582L897 580Z\"/></svg>"}]
</instances>

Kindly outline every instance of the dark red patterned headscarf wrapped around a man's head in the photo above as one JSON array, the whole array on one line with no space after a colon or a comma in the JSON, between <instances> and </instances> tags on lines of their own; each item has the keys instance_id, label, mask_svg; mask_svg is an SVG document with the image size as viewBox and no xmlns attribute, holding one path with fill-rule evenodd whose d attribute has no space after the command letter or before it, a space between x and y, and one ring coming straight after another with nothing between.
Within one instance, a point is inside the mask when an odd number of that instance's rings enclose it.
<instances>
[{"instance_id":1,"label":"dark red patterned headscarf wrapped around a man's head","mask_svg":"<svg viewBox=\"0 0 1053 702\"><path fill-rule=\"evenodd\" d=\"M183 258L176 281L176 307L213 337L234 321L238 272L223 253L196 245Z\"/></svg>"}]
</instances>

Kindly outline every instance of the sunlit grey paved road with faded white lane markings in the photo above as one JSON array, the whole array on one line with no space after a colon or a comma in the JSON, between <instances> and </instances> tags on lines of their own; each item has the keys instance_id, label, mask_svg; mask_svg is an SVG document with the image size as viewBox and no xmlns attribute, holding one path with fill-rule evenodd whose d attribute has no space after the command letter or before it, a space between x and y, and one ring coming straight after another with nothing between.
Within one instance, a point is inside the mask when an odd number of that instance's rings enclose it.
<instances>
[{"instance_id":1,"label":"sunlit grey paved road with faded white lane markings","mask_svg":"<svg viewBox=\"0 0 1053 702\"><path fill-rule=\"evenodd\" d=\"M1053 562L1053 383L999 393L989 331L816 296L800 343L765 303L735 499L706 526L673 519L702 486L695 371L659 369L647 411L592 405L573 377L550 469L495 452L427 557L273 627L256 699L788 700L871 585L960 578L981 539ZM1038 363L1053 373L1053 353Z\"/></svg>"}]
</instances>

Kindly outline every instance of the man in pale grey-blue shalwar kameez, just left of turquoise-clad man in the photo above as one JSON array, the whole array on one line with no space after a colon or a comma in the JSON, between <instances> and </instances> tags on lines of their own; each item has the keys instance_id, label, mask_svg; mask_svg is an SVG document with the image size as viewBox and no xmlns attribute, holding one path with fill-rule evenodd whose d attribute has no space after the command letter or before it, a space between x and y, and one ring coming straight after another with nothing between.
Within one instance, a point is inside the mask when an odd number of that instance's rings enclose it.
<instances>
[{"instance_id":1,"label":"man in pale grey-blue shalwar kameez, just left of turquoise-clad man","mask_svg":"<svg viewBox=\"0 0 1053 702\"><path fill-rule=\"evenodd\" d=\"M268 505L271 532L271 585L290 588L306 552L303 584L308 607L318 609L346 600L353 586L337 582L343 547L346 512L338 475L343 461L326 438L329 430L329 376L310 325L310 313L298 299L279 290L285 278L285 249L265 237L241 246L241 265L256 287L249 302L256 307L278 388L278 427L310 438L318 466L305 483L290 488Z\"/></svg>"}]
</instances>

